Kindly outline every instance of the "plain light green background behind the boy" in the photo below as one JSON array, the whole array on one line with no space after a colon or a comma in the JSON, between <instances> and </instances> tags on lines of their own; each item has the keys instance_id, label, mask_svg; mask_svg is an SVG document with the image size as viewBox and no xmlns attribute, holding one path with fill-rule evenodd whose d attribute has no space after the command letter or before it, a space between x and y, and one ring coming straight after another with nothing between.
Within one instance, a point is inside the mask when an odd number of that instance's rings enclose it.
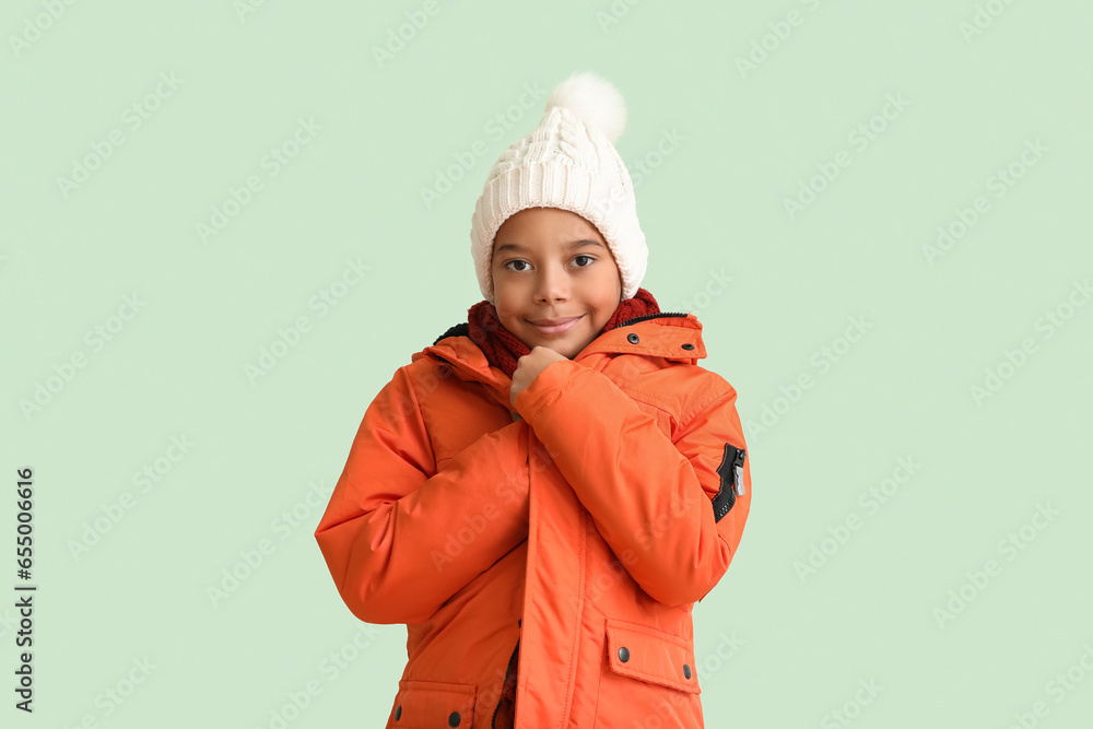
<instances>
[{"instance_id":1,"label":"plain light green background behind the boy","mask_svg":"<svg viewBox=\"0 0 1093 729\"><path fill-rule=\"evenodd\" d=\"M844 726L831 713L846 707L856 727L1002 728L1038 701L1037 726L1088 726L1093 306L1065 306L1093 273L1088 3L620 0L606 24L604 1L443 1L377 62L373 48L423 5L0 12L0 543L14 537L14 471L31 467L39 586L33 716L12 706L14 610L0 609L0 724L270 727L315 681L287 726L383 726L406 628L367 628L342 604L312 536L322 507L306 497L333 486L395 369L481 299L474 201L545 98L517 106L503 137L490 119L525 84L545 93L595 70L626 99L616 145L635 179L642 160L656 165L636 188L643 285L698 316L703 364L737 388L744 421L780 411L747 431L752 515L695 607L707 726ZM966 37L977 7L985 27ZM778 26L790 11L799 24ZM773 50L741 72L764 36ZM180 85L132 129L122 115L161 73ZM889 95L905 107L874 119ZM263 155L299 118L321 130L272 176ZM849 134L870 121L884 129L862 150ZM116 130L124 144L66 196L58 177ZM684 139L658 158L666 132ZM1046 151L1020 169L1027 140ZM427 208L421 189L479 141L486 154ZM841 151L849 165L791 220L785 199ZM1014 163L1023 176L996 197L991 176ZM251 175L262 189L203 243L197 224ZM979 196L989 211L930 264L936 228ZM350 259L368 273L313 308ZM144 305L96 351L86 332L127 295ZM1060 305L1072 316L1048 338L1043 317ZM301 316L309 331L251 383L246 366ZM871 328L822 372L850 317ZM1025 338L1035 352L976 402L972 387ZM77 353L86 366L24 414ZM790 402L801 375L812 387ZM141 493L132 474L183 436L192 448ZM871 514L859 497L908 457L920 470ZM133 507L73 556L127 491ZM1045 504L1058 515L1027 526ZM279 527L294 507L306 517ZM833 551L823 540L855 516ZM1025 549L1000 551L1022 527ZM214 605L208 588L263 539L273 552ZM802 578L813 545L833 554ZM1000 572L973 589L967 574L991 558ZM962 587L974 598L939 624ZM355 660L332 675L338 651ZM145 658L146 680L107 699ZM1084 680L1049 685L1068 670ZM855 706L870 680L882 690Z\"/></svg>"}]
</instances>

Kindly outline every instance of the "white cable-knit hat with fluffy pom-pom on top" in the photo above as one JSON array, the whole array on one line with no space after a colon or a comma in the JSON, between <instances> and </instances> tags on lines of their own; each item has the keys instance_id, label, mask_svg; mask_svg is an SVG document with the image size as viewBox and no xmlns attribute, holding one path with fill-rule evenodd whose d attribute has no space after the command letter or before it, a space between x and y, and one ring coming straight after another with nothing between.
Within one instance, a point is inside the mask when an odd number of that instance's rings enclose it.
<instances>
[{"instance_id":1,"label":"white cable-knit hat with fluffy pom-pom on top","mask_svg":"<svg viewBox=\"0 0 1093 729\"><path fill-rule=\"evenodd\" d=\"M471 256L486 301L496 304L491 264L497 228L527 208L568 210L595 225L622 274L622 297L637 293L649 250L634 185L613 144L625 126L622 94L595 73L575 73L551 92L539 127L501 155L474 205Z\"/></svg>"}]
</instances>

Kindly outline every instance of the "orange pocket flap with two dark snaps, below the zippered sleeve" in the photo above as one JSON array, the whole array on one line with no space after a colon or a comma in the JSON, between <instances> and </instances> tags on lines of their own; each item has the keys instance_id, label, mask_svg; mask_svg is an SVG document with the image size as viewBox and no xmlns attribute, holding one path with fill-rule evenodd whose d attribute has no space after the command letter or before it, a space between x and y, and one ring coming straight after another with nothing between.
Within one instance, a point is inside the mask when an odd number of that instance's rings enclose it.
<instances>
[{"instance_id":1,"label":"orange pocket flap with two dark snaps, below the zippered sleeve","mask_svg":"<svg viewBox=\"0 0 1093 729\"><path fill-rule=\"evenodd\" d=\"M621 675L690 694L701 693L694 651L686 640L648 625L606 621L608 663Z\"/></svg>"}]
</instances>

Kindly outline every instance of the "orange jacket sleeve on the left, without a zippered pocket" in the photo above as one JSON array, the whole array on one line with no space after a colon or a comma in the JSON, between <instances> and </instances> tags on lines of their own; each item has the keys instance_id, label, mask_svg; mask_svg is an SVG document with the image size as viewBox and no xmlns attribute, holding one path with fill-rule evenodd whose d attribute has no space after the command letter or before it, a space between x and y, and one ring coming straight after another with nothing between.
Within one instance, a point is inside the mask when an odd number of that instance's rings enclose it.
<instances>
[{"instance_id":1,"label":"orange jacket sleeve on the left, without a zippered pocket","mask_svg":"<svg viewBox=\"0 0 1093 729\"><path fill-rule=\"evenodd\" d=\"M396 373L365 411L315 530L353 614L427 620L527 539L528 432L516 421L487 433L434 472L410 375Z\"/></svg>"}]
</instances>

